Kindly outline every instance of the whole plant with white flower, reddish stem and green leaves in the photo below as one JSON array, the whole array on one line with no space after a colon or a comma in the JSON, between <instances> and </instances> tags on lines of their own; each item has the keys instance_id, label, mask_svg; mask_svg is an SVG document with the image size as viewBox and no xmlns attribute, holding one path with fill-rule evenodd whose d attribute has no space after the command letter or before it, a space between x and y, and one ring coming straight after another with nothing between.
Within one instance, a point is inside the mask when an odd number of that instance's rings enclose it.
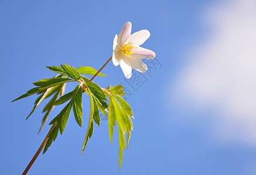
<instances>
[{"instance_id":1,"label":"whole plant with white flower, reddish stem and green leaves","mask_svg":"<svg viewBox=\"0 0 256 175\"><path fill-rule=\"evenodd\" d=\"M115 35L112 57L110 57L110 59L103 65L103 67L101 67L99 71L96 71L91 67L74 68L66 64L60 65L60 67L47 66L46 68L48 68L50 71L56 72L56 76L33 82L33 85L36 86L35 88L28 90L28 92L26 92L24 95L13 100L16 101L31 95L39 96L34 103L32 111L26 118L28 119L43 100L48 98L50 99L43 108L42 112L45 113L45 115L43 116L39 132L45 125L50 111L53 110L54 106L59 106L65 102L68 102L60 113L49 122L49 125L52 125L52 127L23 174L28 172L39 153L42 150L43 153L45 153L47 149L49 149L50 145L52 145L52 143L56 140L58 134L63 134L67 121L69 120L71 110L74 113L74 118L77 124L82 127L83 92L86 92L90 99L90 116L86 116L90 118L81 153L83 153L88 140L93 135L95 125L100 127L99 111L101 111L101 113L108 118L108 130L111 143L114 127L117 125L119 136L119 167L121 168L123 151L125 148L128 149L131 131L133 130L131 120L131 118L134 118L133 113L127 101L122 98L122 96L125 95L122 85L101 88L101 86L92 81L95 76L106 76L100 72L111 60L115 66L120 65L126 78L131 78L132 68L139 72L146 72L148 68L146 64L141 61L141 59L153 59L155 58L155 53L151 50L140 47L140 45L143 44L149 38L149 36L150 33L148 30L141 30L131 35L131 23L127 22L122 27L120 34ZM94 76L93 78L88 79L87 75ZM71 92L64 94L66 84L70 82L77 82L78 85Z\"/></svg>"}]
</instances>

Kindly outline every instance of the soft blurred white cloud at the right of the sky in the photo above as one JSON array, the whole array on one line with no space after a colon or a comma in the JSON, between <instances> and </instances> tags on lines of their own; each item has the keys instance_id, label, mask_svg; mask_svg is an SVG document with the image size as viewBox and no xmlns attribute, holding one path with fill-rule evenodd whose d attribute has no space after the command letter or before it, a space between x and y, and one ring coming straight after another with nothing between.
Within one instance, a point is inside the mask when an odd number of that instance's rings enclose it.
<instances>
[{"instance_id":1,"label":"soft blurred white cloud at the right of the sky","mask_svg":"<svg viewBox=\"0 0 256 175\"><path fill-rule=\"evenodd\" d=\"M213 131L223 141L255 146L256 1L219 4L203 20L213 33L188 54L173 94L189 106L214 107Z\"/></svg>"}]
</instances>

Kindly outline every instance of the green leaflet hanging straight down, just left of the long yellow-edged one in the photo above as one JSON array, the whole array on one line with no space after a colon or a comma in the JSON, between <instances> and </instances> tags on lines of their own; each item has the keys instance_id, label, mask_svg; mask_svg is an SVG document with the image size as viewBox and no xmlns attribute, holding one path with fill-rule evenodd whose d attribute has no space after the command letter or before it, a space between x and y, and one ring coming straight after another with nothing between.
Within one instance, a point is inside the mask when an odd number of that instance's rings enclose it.
<instances>
[{"instance_id":1,"label":"green leaflet hanging straight down, just left of the long yellow-edged one","mask_svg":"<svg viewBox=\"0 0 256 175\"><path fill-rule=\"evenodd\" d=\"M83 115L83 107L82 107L82 93L83 93L83 86L79 85L76 95L74 96L73 102L73 112L74 118L80 127L82 127L82 115Z\"/></svg>"}]
</instances>

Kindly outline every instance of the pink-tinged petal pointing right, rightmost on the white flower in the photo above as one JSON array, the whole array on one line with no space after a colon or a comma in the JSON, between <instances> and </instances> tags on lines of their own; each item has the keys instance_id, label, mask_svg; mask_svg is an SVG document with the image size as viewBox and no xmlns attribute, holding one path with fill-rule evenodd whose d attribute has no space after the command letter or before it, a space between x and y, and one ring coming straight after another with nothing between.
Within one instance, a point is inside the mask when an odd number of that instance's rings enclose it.
<instances>
[{"instance_id":1,"label":"pink-tinged petal pointing right, rightmost on the white flower","mask_svg":"<svg viewBox=\"0 0 256 175\"><path fill-rule=\"evenodd\" d=\"M138 48L134 48L134 54L131 55L131 58L138 58L138 59L145 58L147 60L151 60L155 58L155 56L156 54L152 50L138 47Z\"/></svg>"}]
</instances>

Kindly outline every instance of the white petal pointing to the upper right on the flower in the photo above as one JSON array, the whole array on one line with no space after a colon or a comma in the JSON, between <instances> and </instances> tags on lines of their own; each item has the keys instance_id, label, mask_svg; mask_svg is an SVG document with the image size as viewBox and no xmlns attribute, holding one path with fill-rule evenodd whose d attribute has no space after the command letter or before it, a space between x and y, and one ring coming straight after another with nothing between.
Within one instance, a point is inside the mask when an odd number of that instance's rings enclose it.
<instances>
[{"instance_id":1,"label":"white petal pointing to the upper right on the flower","mask_svg":"<svg viewBox=\"0 0 256 175\"><path fill-rule=\"evenodd\" d=\"M148 30L140 30L132 34L125 43L127 44L131 42L135 46L139 46L143 44L146 40L148 40L149 36L150 33Z\"/></svg>"}]
</instances>

